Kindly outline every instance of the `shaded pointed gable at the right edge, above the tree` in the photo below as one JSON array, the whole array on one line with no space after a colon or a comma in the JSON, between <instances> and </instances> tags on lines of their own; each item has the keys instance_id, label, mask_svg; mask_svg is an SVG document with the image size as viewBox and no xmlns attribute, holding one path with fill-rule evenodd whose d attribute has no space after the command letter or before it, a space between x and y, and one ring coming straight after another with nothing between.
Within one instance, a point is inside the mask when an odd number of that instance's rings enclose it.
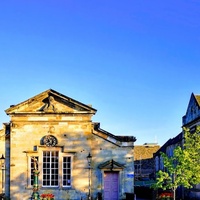
<instances>
[{"instance_id":1,"label":"shaded pointed gable at the right edge, above the tree","mask_svg":"<svg viewBox=\"0 0 200 200\"><path fill-rule=\"evenodd\" d=\"M183 126L200 117L200 95L192 93L187 107L186 115L183 116Z\"/></svg>"}]
</instances>

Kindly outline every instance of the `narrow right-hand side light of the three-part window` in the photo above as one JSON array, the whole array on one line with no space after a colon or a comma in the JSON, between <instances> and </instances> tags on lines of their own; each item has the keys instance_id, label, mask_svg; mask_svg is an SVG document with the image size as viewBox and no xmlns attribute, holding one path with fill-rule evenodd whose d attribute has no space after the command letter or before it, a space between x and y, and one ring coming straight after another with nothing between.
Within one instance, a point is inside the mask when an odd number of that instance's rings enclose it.
<instances>
[{"instance_id":1,"label":"narrow right-hand side light of the three-part window","mask_svg":"<svg viewBox=\"0 0 200 200\"><path fill-rule=\"evenodd\" d=\"M63 157L63 186L71 186L71 157Z\"/></svg>"}]
</instances>

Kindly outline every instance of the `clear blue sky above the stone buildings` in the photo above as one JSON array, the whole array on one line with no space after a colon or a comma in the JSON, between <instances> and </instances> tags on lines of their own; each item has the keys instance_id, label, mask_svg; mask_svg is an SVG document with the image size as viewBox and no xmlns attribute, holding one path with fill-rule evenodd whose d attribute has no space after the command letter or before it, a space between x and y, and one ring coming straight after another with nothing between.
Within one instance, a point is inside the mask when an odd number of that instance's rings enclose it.
<instances>
[{"instance_id":1,"label":"clear blue sky above the stone buildings","mask_svg":"<svg viewBox=\"0 0 200 200\"><path fill-rule=\"evenodd\" d=\"M92 104L102 129L162 145L199 80L199 0L0 2L1 124L51 88Z\"/></svg>"}]
</instances>

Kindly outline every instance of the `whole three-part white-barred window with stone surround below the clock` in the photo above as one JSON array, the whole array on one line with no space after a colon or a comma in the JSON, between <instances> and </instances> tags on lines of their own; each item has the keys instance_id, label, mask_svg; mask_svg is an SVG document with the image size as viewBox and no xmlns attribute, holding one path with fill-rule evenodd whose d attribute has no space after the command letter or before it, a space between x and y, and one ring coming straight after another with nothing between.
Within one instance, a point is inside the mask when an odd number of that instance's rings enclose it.
<instances>
[{"instance_id":1,"label":"whole three-part white-barred window with stone surround below the clock","mask_svg":"<svg viewBox=\"0 0 200 200\"><path fill-rule=\"evenodd\" d=\"M40 157L41 156L41 157ZM71 187L72 185L72 156L59 150L44 150L38 156L30 155L30 182L34 184L34 159L37 159L40 171L39 183L43 187Z\"/></svg>"}]
</instances>

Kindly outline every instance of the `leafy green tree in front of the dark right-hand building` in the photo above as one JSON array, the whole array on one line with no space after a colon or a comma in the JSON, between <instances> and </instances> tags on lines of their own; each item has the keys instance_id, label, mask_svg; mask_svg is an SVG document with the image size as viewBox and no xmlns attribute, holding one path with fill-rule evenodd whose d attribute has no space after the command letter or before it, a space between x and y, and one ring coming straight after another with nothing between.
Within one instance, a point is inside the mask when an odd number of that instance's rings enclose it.
<instances>
[{"instance_id":1,"label":"leafy green tree in front of the dark right-hand building","mask_svg":"<svg viewBox=\"0 0 200 200\"><path fill-rule=\"evenodd\" d=\"M161 152L164 171L158 171L156 183L152 186L154 189L172 190L174 200L179 186L192 188L200 183L200 127L194 133L183 128L183 134L183 147L177 146L173 156Z\"/></svg>"}]
</instances>

